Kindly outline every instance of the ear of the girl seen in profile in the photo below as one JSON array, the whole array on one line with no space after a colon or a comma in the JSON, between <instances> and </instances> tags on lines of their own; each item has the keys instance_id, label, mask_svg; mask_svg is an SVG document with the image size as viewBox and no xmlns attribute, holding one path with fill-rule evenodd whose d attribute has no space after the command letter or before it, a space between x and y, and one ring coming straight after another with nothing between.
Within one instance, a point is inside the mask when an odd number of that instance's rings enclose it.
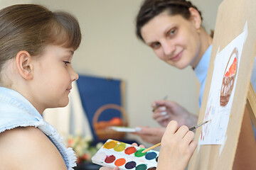
<instances>
[{"instance_id":1,"label":"ear of the girl seen in profile","mask_svg":"<svg viewBox=\"0 0 256 170\"><path fill-rule=\"evenodd\" d=\"M33 79L32 58L27 51L22 50L18 52L16 55L16 67L21 77L27 80Z\"/></svg>"}]
</instances>

